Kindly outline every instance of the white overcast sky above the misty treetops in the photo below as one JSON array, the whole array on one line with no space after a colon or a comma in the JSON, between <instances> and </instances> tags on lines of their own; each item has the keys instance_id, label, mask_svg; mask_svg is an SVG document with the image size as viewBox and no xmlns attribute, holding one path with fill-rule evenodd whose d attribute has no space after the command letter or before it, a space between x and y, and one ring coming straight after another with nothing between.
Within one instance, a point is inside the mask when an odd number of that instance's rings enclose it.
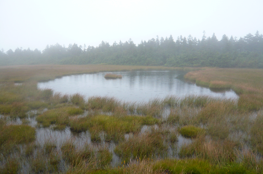
<instances>
[{"instance_id":1,"label":"white overcast sky above the misty treetops","mask_svg":"<svg viewBox=\"0 0 263 174\"><path fill-rule=\"evenodd\" d=\"M263 0L0 0L0 48L263 33Z\"/></svg>"}]
</instances>

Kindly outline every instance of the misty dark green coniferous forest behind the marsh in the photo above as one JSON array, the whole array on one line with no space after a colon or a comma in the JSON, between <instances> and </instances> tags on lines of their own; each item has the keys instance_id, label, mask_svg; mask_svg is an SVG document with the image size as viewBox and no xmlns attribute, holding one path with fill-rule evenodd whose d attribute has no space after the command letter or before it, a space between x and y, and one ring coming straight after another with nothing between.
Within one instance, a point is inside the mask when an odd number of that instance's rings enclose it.
<instances>
[{"instance_id":1,"label":"misty dark green coniferous forest behind the marsh","mask_svg":"<svg viewBox=\"0 0 263 174\"><path fill-rule=\"evenodd\" d=\"M263 68L263 35L218 39L215 34L202 39L178 36L158 37L136 45L131 39L110 45L102 41L99 46L76 43L68 47L47 45L41 52L17 48L0 52L0 65L18 64L120 64L164 65L169 67L224 67Z\"/></svg>"}]
</instances>

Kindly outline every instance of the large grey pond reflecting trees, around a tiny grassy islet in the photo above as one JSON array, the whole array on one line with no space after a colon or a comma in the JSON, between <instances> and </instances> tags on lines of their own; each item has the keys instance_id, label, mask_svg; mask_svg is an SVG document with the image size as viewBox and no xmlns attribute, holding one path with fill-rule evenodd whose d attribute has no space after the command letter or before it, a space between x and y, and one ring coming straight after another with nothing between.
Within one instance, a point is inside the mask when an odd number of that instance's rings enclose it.
<instances>
[{"instance_id":1,"label":"large grey pond reflecting trees, around a tiny grassy islet","mask_svg":"<svg viewBox=\"0 0 263 174\"><path fill-rule=\"evenodd\" d=\"M80 93L89 96L114 96L122 101L148 101L167 95L209 95L214 97L238 98L231 89L218 90L196 85L183 78L185 71L127 71L113 72L122 79L105 79L109 72L69 75L55 80L38 83L39 88L51 88L62 94Z\"/></svg>"}]
</instances>

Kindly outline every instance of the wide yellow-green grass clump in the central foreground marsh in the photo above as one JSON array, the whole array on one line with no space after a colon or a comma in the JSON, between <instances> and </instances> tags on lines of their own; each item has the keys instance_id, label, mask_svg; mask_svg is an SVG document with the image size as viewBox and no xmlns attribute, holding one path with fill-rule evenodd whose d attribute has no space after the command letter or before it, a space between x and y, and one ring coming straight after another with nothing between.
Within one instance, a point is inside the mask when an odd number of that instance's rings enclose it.
<instances>
[{"instance_id":1,"label":"wide yellow-green grass clump in the central foreground marsh","mask_svg":"<svg viewBox=\"0 0 263 174\"><path fill-rule=\"evenodd\" d=\"M136 133L140 131L143 125L153 125L159 122L159 119L150 116L107 116L95 115L84 118L70 119L69 126L72 132L84 132L89 130L92 139L100 140L96 133L97 128L104 131L107 142L118 142L124 138L125 133ZM95 130L93 130L95 129Z\"/></svg>"}]
</instances>

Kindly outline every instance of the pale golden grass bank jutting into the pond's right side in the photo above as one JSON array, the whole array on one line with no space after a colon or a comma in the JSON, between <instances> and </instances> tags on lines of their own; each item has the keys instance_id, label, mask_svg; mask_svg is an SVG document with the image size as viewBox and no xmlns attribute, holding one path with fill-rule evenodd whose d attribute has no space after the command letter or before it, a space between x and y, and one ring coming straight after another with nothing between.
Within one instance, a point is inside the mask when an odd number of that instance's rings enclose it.
<instances>
[{"instance_id":1,"label":"pale golden grass bank jutting into the pond's right side","mask_svg":"<svg viewBox=\"0 0 263 174\"><path fill-rule=\"evenodd\" d=\"M185 78L211 88L232 88L238 93L258 93L263 89L263 69L208 68L189 72Z\"/></svg>"}]
</instances>

